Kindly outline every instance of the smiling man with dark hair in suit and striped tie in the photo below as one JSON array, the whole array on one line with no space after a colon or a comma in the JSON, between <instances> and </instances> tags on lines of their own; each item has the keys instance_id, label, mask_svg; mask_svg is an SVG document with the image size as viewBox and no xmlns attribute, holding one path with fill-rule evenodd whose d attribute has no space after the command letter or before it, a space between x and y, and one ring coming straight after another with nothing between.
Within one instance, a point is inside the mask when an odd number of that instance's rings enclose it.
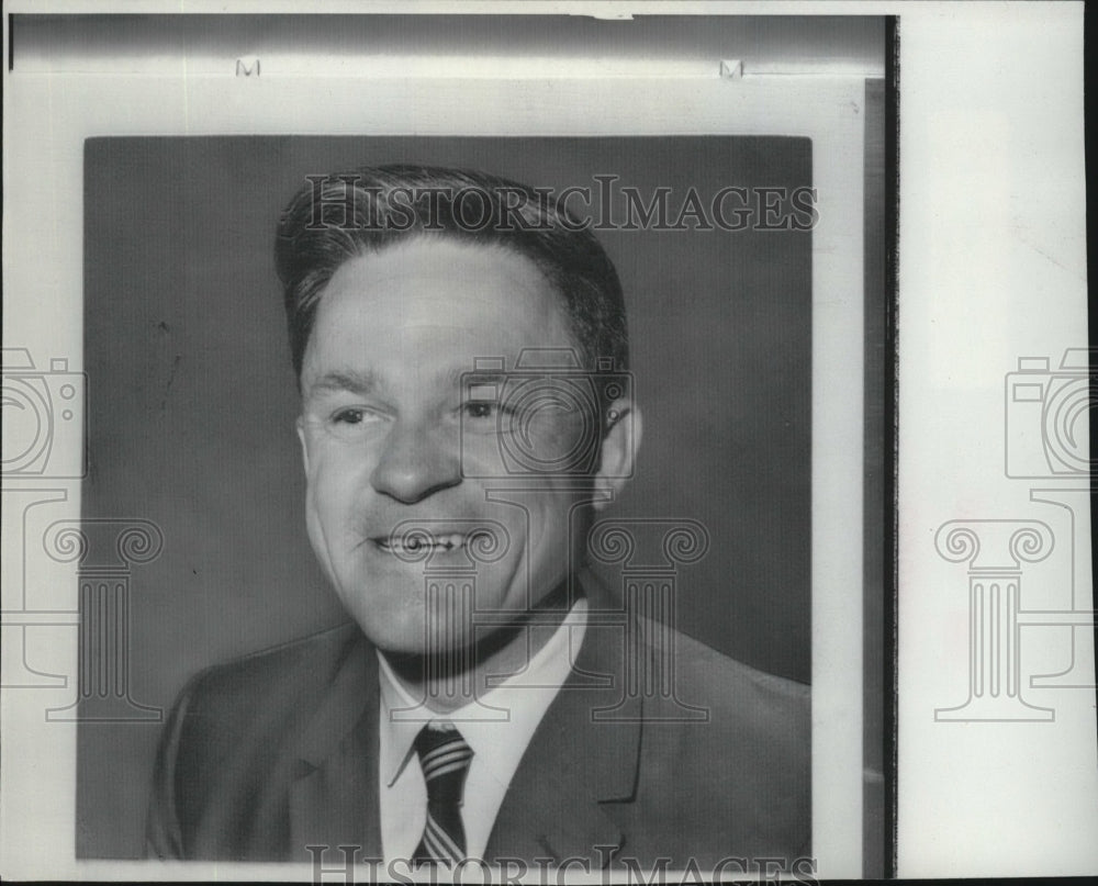
<instances>
[{"instance_id":1,"label":"smiling man with dark hair in suit and striped tie","mask_svg":"<svg viewBox=\"0 0 1098 886\"><path fill-rule=\"evenodd\" d=\"M277 265L309 537L351 620L191 681L150 851L725 872L806 855L806 689L582 570L642 428L594 236L545 190L381 167L310 177Z\"/></svg>"}]
</instances>

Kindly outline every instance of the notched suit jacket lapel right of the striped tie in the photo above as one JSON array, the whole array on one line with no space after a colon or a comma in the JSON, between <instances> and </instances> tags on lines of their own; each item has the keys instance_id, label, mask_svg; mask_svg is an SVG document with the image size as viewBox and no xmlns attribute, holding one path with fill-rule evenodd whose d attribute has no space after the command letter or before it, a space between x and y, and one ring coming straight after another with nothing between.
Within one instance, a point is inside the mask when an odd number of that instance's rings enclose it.
<instances>
[{"instance_id":1,"label":"notched suit jacket lapel right of the striped tie","mask_svg":"<svg viewBox=\"0 0 1098 886\"><path fill-rule=\"evenodd\" d=\"M625 844L606 805L629 801L638 774L641 711L639 699L625 697L623 641L620 627L589 625L572 673L507 789L490 862L583 859L594 870Z\"/></svg>"}]
</instances>

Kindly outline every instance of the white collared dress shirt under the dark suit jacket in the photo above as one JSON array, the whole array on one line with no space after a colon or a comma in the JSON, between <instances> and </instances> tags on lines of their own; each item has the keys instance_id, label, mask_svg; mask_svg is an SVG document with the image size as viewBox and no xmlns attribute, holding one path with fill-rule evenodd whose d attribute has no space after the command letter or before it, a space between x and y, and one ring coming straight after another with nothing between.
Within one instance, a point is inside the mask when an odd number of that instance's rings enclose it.
<instances>
[{"instance_id":1,"label":"white collared dress shirt under the dark suit jacket","mask_svg":"<svg viewBox=\"0 0 1098 886\"><path fill-rule=\"evenodd\" d=\"M421 699L408 693L385 657L378 653L381 691L378 789L381 845L386 862L411 859L423 837L427 787L412 745L429 719L452 722L473 750L461 821L469 857L484 856L507 786L538 724L572 670L586 630L586 610L587 602L580 599L557 628L528 628L531 646L535 631L552 631L552 636L527 668L480 695L479 704L468 704L447 715L432 715ZM397 719L391 716L394 710L411 710L412 716Z\"/></svg>"}]
</instances>

